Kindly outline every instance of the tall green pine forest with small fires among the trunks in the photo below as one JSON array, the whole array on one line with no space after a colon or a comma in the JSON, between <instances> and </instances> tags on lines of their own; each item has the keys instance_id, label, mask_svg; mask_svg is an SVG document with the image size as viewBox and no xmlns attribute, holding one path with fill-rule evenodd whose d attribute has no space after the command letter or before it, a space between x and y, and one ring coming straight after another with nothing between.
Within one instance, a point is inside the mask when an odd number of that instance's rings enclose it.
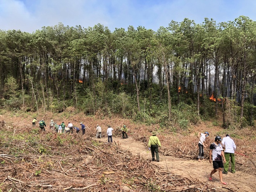
<instances>
[{"instance_id":1,"label":"tall green pine forest with small fires among the trunks","mask_svg":"<svg viewBox=\"0 0 256 192\"><path fill-rule=\"evenodd\" d=\"M142 26L0 30L0 108L120 115L186 129L221 112L224 128L256 123L256 22L185 18Z\"/></svg>"}]
</instances>

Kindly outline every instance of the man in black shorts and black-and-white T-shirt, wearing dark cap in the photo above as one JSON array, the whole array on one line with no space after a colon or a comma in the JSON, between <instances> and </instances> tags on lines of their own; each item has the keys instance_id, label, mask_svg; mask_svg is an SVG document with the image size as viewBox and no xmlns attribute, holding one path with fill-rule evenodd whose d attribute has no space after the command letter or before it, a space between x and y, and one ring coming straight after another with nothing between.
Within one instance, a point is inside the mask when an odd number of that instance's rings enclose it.
<instances>
[{"instance_id":1,"label":"man in black shorts and black-and-white T-shirt, wearing dark cap","mask_svg":"<svg viewBox=\"0 0 256 192\"><path fill-rule=\"evenodd\" d=\"M210 145L210 154L209 154L209 162L213 162L213 170L211 173L208 175L209 176L209 181L212 181L211 176L219 171L219 176L220 176L220 183L223 185L227 185L227 183L223 182L222 180L222 168L223 168L223 163L222 163L222 158L224 163L226 163L223 148L221 146L221 137L216 136L215 137L215 142Z\"/></svg>"}]
</instances>

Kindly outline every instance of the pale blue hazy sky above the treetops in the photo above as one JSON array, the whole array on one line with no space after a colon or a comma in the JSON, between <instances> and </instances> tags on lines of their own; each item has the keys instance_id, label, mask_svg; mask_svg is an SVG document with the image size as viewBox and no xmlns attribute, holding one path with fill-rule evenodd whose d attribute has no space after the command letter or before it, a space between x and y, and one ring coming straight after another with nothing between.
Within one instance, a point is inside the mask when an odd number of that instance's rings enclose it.
<instances>
[{"instance_id":1,"label":"pale blue hazy sky above the treetops","mask_svg":"<svg viewBox=\"0 0 256 192\"><path fill-rule=\"evenodd\" d=\"M0 30L28 33L59 22L83 28L100 23L112 32L129 26L157 31L172 20L202 24L207 17L220 23L239 16L256 21L256 0L0 0Z\"/></svg>"}]
</instances>

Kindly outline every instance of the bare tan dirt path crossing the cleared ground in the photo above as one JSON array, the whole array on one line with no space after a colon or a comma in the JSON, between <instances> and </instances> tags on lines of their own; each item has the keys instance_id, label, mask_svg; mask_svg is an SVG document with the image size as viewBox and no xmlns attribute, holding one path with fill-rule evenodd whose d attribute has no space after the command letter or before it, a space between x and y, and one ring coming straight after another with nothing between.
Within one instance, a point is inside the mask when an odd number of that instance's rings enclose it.
<instances>
[{"instance_id":1,"label":"bare tan dirt path crossing the cleared ground","mask_svg":"<svg viewBox=\"0 0 256 192\"><path fill-rule=\"evenodd\" d=\"M106 142L107 138L98 139L102 142ZM129 150L134 155L140 155L146 159L151 158L150 150L147 150L147 147L142 143L134 140L129 137L128 139L113 138L113 143L119 143L123 150ZM161 149L160 149L161 151ZM176 175L180 175L187 178L192 178L192 180L199 180L207 186L214 188L227 187L231 191L242 191L242 192L255 192L256 191L256 182L254 181L254 176L244 173L242 171L236 171L236 173L228 173L228 175L223 175L223 181L228 183L228 185L222 185L219 182L218 173L214 173L212 176L213 181L208 181L208 174L213 169L213 166L209 161L193 161L193 160L184 160L181 158L173 156L163 156L159 154L160 162L151 163L156 164L164 171L169 171Z\"/></svg>"}]
</instances>

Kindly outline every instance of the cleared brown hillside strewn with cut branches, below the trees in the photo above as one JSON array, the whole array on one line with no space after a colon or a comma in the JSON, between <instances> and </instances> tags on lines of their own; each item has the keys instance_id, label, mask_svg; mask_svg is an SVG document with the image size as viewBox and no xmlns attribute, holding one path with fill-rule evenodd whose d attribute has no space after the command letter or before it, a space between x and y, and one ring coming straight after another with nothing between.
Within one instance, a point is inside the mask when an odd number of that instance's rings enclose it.
<instances>
[{"instance_id":1,"label":"cleared brown hillside strewn with cut branches, below the trees","mask_svg":"<svg viewBox=\"0 0 256 192\"><path fill-rule=\"evenodd\" d=\"M210 121L192 126L187 131L171 132L158 125L135 124L128 119L85 116L84 114L45 114L45 132L32 128L33 114L0 116L0 189L2 191L254 191L255 130L228 130L237 144L236 173L228 173L219 183L207 175L213 169L209 161L197 162L198 131L208 131L207 145L216 134L227 131ZM49 130L50 119L86 127L79 134L57 135ZM103 137L95 138L95 126L102 127ZM114 128L113 144L107 143L107 125ZM126 125L129 138L121 139L121 126ZM150 161L147 142L157 130L161 141L160 162ZM208 157L208 150L206 150Z\"/></svg>"}]
</instances>

